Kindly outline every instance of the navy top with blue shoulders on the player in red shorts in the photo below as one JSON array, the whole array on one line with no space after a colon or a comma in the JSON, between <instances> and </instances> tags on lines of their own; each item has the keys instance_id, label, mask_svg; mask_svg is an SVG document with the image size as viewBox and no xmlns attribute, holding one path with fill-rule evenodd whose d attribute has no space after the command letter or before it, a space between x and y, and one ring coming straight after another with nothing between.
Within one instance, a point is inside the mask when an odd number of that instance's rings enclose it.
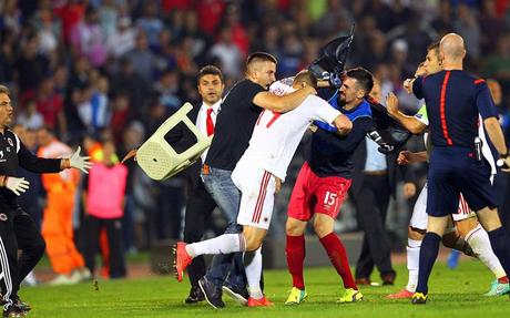
<instances>
[{"instance_id":1,"label":"navy top with blue shoulders on the player in red shorts","mask_svg":"<svg viewBox=\"0 0 510 318\"><path fill-rule=\"evenodd\" d=\"M333 106L349 117L353 122L353 130L346 136L339 136L335 132L318 129L312 137L308 164L312 171L320 177L351 178L354 151L373 127L370 105L364 101L355 109L346 111L336 105L336 99L334 102L330 100L329 103L334 103Z\"/></svg>"}]
</instances>

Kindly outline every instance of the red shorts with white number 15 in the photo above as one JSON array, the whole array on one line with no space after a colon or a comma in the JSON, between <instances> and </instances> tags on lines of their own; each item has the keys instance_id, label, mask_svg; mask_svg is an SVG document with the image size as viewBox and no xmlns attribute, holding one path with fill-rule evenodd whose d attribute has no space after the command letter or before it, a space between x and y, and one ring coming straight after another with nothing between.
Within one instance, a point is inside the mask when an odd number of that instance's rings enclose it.
<instances>
[{"instance_id":1,"label":"red shorts with white number 15","mask_svg":"<svg viewBox=\"0 0 510 318\"><path fill-rule=\"evenodd\" d=\"M308 220L315 213L336 218L350 183L339 176L319 177L305 162L294 185L287 215L299 220Z\"/></svg>"}]
</instances>

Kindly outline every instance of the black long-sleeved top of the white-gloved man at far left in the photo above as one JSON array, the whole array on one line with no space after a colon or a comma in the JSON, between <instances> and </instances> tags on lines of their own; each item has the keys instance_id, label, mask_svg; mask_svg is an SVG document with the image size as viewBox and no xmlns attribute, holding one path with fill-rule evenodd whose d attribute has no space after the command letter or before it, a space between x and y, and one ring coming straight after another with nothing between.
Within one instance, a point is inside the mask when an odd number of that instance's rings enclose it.
<instances>
[{"instance_id":1,"label":"black long-sleeved top of the white-gloved man at far left","mask_svg":"<svg viewBox=\"0 0 510 318\"><path fill-rule=\"evenodd\" d=\"M0 175L18 176L18 167L34 173L60 172L60 158L40 158L32 154L9 129L0 133ZM0 187L0 211L17 208L17 195Z\"/></svg>"}]
</instances>

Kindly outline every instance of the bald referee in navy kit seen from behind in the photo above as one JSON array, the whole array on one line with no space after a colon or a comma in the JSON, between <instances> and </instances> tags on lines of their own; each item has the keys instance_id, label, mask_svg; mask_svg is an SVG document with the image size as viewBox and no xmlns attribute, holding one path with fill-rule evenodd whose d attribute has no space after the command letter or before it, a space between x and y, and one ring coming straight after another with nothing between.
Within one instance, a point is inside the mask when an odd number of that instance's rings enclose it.
<instances>
[{"instance_id":1,"label":"bald referee in navy kit seen from behind","mask_svg":"<svg viewBox=\"0 0 510 318\"><path fill-rule=\"evenodd\" d=\"M490 166L477 153L478 114L500 154L509 165L508 150L484 80L462 71L466 57L463 40L450 33L440 42L443 71L427 78L406 81L418 99L425 99L432 141L428 172L428 226L420 250L418 286L412 304L426 304L428 277L437 258L448 214L457 209L462 193L489 234L494 254L510 274L510 239L501 227L496 194L490 183Z\"/></svg>"}]
</instances>

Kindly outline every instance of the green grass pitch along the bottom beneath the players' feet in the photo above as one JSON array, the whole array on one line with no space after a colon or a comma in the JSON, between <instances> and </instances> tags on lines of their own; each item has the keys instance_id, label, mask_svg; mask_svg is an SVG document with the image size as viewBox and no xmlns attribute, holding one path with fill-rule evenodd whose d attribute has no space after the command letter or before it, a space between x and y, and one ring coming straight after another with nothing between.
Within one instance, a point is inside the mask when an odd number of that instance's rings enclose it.
<instances>
[{"instance_id":1,"label":"green grass pitch along the bottom beneath the players' feet","mask_svg":"<svg viewBox=\"0 0 510 318\"><path fill-rule=\"evenodd\" d=\"M74 286L22 288L22 299L33 307L29 317L506 317L510 312L508 296L490 298L482 294L489 288L492 275L479 263L463 260L459 269L450 270L438 263L431 277L429 302L411 306L409 300L387 300L407 280L404 265L397 266L399 276L392 287L361 288L365 301L335 304L339 295L338 276L333 268L305 269L308 299L288 307L283 302L290 289L286 270L265 271L266 293L276 306L245 308L226 299L227 308L215 310L207 305L185 306L188 284L176 283L170 276L143 279L100 280L99 290L92 283Z\"/></svg>"}]
</instances>

